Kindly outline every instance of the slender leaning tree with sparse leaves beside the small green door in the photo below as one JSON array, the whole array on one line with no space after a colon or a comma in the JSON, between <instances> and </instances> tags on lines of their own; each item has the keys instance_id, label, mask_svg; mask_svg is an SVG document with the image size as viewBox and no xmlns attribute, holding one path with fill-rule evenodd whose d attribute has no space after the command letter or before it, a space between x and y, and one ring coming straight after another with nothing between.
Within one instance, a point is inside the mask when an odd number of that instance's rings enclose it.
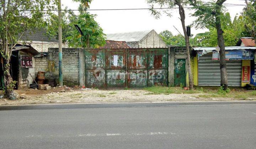
<instances>
[{"instance_id":1,"label":"slender leaning tree with sparse leaves beside the small green door","mask_svg":"<svg viewBox=\"0 0 256 149\"><path fill-rule=\"evenodd\" d=\"M189 86L190 89L194 88L194 82L193 82L193 74L191 70L191 62L190 62L190 45L189 45L189 37L187 35L186 31L186 25L185 25L185 10L184 6L187 6L190 4L187 0L147 0L149 4L152 4L151 8L151 14L154 15L156 18L160 17L160 12L154 10L154 4L159 4L160 7L167 6L169 8L173 8L174 6L178 6L179 14L180 14L180 20L182 24L182 29L185 37L185 42L186 42L186 53L187 53L187 64L188 64L188 79L189 79ZM170 15L170 12L167 12L168 16Z\"/></svg>"}]
</instances>

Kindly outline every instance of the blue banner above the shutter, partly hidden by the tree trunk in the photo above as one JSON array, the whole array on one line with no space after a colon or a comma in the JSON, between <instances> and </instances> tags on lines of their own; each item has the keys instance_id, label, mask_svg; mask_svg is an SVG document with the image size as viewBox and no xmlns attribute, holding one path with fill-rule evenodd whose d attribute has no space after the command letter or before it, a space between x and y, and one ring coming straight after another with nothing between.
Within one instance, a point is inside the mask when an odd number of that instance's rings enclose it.
<instances>
[{"instance_id":1,"label":"blue banner above the shutter, partly hidden by the tree trunk","mask_svg":"<svg viewBox=\"0 0 256 149\"><path fill-rule=\"evenodd\" d=\"M213 51L212 60L219 60L219 53ZM251 50L227 50L226 60L254 60L254 51Z\"/></svg>"}]
</instances>

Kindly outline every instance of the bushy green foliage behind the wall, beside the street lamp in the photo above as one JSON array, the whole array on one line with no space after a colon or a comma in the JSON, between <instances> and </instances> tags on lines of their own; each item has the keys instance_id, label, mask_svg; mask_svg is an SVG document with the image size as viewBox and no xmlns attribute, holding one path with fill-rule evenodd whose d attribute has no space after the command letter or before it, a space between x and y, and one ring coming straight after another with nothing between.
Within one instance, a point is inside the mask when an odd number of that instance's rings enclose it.
<instances>
[{"instance_id":1,"label":"bushy green foliage behind the wall, beside the street lamp","mask_svg":"<svg viewBox=\"0 0 256 149\"><path fill-rule=\"evenodd\" d=\"M71 26L77 24L84 35L80 35L74 27L74 29L70 31L71 35L66 38L68 40L69 46L83 48L89 46L90 48L98 48L106 43L103 29L98 25L94 18L95 15L91 15L89 13L82 13L78 16L75 16L75 21L71 22ZM87 45L86 41L88 39L90 41L90 45Z\"/></svg>"}]
</instances>

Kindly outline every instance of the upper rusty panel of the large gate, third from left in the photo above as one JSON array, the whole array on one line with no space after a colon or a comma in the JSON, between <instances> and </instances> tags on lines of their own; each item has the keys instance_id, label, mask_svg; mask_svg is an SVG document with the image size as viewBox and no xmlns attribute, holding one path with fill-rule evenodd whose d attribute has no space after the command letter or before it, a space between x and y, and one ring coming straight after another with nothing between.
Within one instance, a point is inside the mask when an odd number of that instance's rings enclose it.
<instances>
[{"instance_id":1,"label":"upper rusty panel of the large gate, third from left","mask_svg":"<svg viewBox=\"0 0 256 149\"><path fill-rule=\"evenodd\" d=\"M147 67L147 49L129 49L127 53L128 69L145 69Z\"/></svg>"}]
</instances>

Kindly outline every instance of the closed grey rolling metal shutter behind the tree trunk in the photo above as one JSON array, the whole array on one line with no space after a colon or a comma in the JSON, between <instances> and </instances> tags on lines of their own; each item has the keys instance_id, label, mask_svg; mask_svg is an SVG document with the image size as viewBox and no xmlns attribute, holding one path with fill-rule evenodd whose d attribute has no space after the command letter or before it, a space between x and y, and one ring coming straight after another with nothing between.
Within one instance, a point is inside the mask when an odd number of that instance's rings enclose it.
<instances>
[{"instance_id":1,"label":"closed grey rolling metal shutter behind the tree trunk","mask_svg":"<svg viewBox=\"0 0 256 149\"><path fill-rule=\"evenodd\" d=\"M241 87L242 61L226 61L228 85ZM220 66L218 60L212 60L212 53L199 57L198 85L220 86Z\"/></svg>"}]
</instances>

